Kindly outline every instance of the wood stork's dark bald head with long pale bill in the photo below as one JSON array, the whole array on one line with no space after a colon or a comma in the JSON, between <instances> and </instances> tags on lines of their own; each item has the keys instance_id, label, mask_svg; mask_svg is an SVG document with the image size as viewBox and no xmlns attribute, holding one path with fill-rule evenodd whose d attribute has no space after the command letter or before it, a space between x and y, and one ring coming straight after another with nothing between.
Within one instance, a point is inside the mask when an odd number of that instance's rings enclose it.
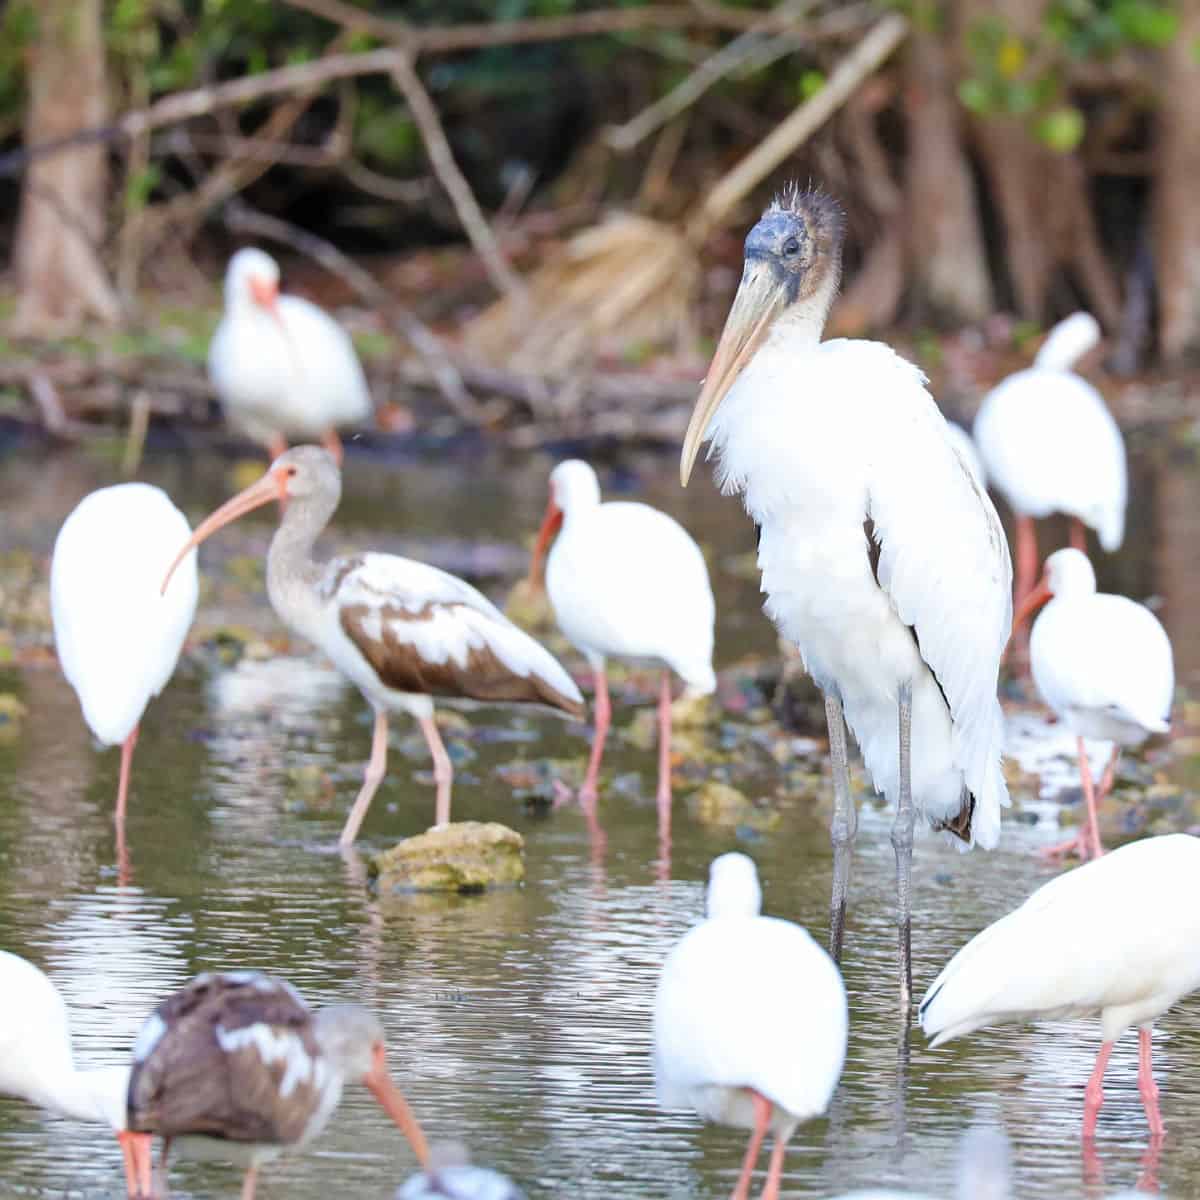
<instances>
[{"instance_id":1,"label":"wood stork's dark bald head with long pale bill","mask_svg":"<svg viewBox=\"0 0 1200 1200\"><path fill-rule=\"evenodd\" d=\"M746 235L742 283L713 355L684 436L679 478L684 486L713 413L772 325L803 317L820 332L841 274L845 218L820 188L792 186L776 196Z\"/></svg>"}]
</instances>

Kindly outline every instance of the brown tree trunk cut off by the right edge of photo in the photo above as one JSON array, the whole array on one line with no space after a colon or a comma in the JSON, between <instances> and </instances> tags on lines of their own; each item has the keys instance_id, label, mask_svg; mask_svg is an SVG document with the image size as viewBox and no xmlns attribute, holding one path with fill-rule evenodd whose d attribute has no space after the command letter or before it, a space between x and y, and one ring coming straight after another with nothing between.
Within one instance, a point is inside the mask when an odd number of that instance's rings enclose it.
<instances>
[{"instance_id":1,"label":"brown tree trunk cut off by the right edge of photo","mask_svg":"<svg viewBox=\"0 0 1200 1200\"><path fill-rule=\"evenodd\" d=\"M1164 359L1200 352L1200 0L1180 0L1180 29L1163 52L1154 173L1158 346Z\"/></svg>"}]
</instances>

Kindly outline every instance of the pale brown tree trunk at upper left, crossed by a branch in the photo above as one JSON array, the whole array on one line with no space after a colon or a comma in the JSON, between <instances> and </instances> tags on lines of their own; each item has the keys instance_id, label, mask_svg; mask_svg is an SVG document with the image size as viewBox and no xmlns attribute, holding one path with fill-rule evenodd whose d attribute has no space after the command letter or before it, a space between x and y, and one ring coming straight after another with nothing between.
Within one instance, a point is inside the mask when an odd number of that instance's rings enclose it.
<instances>
[{"instance_id":1,"label":"pale brown tree trunk at upper left, crossed by a branch","mask_svg":"<svg viewBox=\"0 0 1200 1200\"><path fill-rule=\"evenodd\" d=\"M108 115L101 0L41 0L29 67L25 144L61 138ZM14 262L22 334L115 322L116 294L100 258L108 203L102 146L35 160L25 173Z\"/></svg>"}]
</instances>

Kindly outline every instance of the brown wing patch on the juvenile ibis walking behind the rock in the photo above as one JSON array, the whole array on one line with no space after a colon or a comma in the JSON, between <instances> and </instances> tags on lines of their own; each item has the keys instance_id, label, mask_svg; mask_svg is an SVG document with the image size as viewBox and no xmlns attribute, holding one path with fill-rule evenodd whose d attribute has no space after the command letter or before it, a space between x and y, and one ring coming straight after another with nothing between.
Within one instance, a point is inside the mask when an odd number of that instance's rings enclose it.
<instances>
[{"instance_id":1,"label":"brown wing patch on the juvenile ibis walking behind the rock","mask_svg":"<svg viewBox=\"0 0 1200 1200\"><path fill-rule=\"evenodd\" d=\"M493 703L547 704L571 716L582 718L583 706L542 679L536 672L517 674L485 643L470 647L466 664L448 656L444 662L424 658L418 646L397 636L407 623L434 620L439 614L462 610L463 605L427 604L409 610L396 605L348 605L341 611L342 629L371 664L383 683L396 691L418 696L445 696ZM368 634L366 623L372 631ZM373 636L378 625L382 636Z\"/></svg>"}]
</instances>

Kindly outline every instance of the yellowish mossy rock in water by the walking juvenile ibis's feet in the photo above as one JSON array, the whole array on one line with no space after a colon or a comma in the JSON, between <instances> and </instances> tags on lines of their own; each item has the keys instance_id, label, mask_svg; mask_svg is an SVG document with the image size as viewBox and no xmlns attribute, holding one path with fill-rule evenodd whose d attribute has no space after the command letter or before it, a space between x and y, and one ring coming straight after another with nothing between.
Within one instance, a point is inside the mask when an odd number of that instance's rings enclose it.
<instances>
[{"instance_id":1,"label":"yellowish mossy rock in water by the walking juvenile ibis's feet","mask_svg":"<svg viewBox=\"0 0 1200 1200\"><path fill-rule=\"evenodd\" d=\"M380 892L484 892L524 881L524 839L496 821L438 826L371 859Z\"/></svg>"}]
</instances>

